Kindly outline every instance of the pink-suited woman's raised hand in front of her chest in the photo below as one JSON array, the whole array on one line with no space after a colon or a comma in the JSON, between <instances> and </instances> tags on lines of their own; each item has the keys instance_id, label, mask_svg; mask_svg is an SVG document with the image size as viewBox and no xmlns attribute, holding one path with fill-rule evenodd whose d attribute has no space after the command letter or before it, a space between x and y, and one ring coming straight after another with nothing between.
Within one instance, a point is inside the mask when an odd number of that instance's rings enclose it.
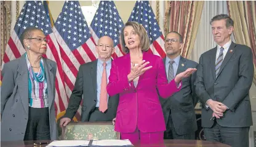
<instances>
[{"instance_id":1,"label":"pink-suited woman's raised hand in front of her chest","mask_svg":"<svg viewBox=\"0 0 256 147\"><path fill-rule=\"evenodd\" d=\"M140 62L137 66L135 66L134 63L132 63L132 68L130 69L130 74L127 75L128 80L132 81L135 78L137 78L138 76L142 75L144 72L146 72L146 70L151 69L152 66L146 67L146 65L148 65L149 63L150 62L145 62L145 60Z\"/></svg>"}]
</instances>

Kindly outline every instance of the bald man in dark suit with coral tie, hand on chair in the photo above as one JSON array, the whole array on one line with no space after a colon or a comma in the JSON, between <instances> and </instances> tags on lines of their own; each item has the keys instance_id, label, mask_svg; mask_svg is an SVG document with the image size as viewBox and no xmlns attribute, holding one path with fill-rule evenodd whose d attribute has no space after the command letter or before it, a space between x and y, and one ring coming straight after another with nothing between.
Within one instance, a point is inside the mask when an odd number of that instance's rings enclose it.
<instances>
[{"instance_id":1,"label":"bald man in dark suit with coral tie, hand on chair","mask_svg":"<svg viewBox=\"0 0 256 147\"><path fill-rule=\"evenodd\" d=\"M108 96L106 85L111 69L111 55L115 49L113 40L103 36L96 47L98 59L82 64L70 96L70 102L60 126L66 126L73 119L82 102L81 121L112 121L116 117L119 96Z\"/></svg>"}]
</instances>

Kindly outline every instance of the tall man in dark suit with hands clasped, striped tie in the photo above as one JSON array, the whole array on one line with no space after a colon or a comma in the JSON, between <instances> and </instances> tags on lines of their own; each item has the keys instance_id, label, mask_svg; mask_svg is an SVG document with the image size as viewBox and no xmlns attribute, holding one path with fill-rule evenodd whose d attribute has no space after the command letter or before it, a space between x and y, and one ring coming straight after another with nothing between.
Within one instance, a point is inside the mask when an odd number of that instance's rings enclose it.
<instances>
[{"instance_id":1,"label":"tall man in dark suit with hands clasped, striped tie","mask_svg":"<svg viewBox=\"0 0 256 147\"><path fill-rule=\"evenodd\" d=\"M215 16L210 25L217 47L201 55L195 83L203 106L204 134L209 141L246 147L252 126L252 51L231 42L234 22L228 15Z\"/></svg>"}]
</instances>

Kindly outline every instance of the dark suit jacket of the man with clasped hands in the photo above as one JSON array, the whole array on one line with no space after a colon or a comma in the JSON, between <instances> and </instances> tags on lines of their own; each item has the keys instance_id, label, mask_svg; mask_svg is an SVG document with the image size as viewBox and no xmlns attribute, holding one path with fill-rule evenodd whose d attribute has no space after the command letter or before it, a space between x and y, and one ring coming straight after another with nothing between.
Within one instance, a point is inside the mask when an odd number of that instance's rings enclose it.
<instances>
[{"instance_id":1,"label":"dark suit jacket of the man with clasped hands","mask_svg":"<svg viewBox=\"0 0 256 147\"><path fill-rule=\"evenodd\" d=\"M196 94L202 102L202 127L212 127L212 110L205 107L209 99L225 104L226 110L217 123L223 127L252 126L249 89L254 77L252 50L246 45L231 43L215 76L217 47L203 53L199 59Z\"/></svg>"}]
</instances>

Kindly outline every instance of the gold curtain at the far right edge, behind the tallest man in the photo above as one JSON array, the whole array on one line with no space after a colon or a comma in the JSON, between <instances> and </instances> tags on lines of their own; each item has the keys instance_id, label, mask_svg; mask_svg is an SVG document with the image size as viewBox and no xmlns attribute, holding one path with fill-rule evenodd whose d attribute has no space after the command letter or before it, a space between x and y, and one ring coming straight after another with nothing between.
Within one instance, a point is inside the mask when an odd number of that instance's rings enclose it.
<instances>
[{"instance_id":1,"label":"gold curtain at the far right edge, behind the tallest man","mask_svg":"<svg viewBox=\"0 0 256 147\"><path fill-rule=\"evenodd\" d=\"M236 43L247 45L254 57L254 83L256 84L256 1L227 1L228 12L234 20Z\"/></svg>"}]
</instances>

